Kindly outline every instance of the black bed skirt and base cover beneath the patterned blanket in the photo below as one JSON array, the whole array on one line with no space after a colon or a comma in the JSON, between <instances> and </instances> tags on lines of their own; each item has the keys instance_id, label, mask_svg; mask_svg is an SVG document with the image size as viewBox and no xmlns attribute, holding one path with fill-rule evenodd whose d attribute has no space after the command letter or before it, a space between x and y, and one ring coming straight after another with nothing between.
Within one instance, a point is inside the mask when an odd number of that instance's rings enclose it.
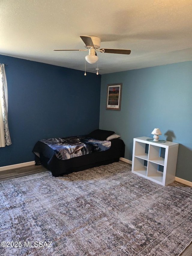
<instances>
[{"instance_id":1,"label":"black bed skirt and base cover beneath the patterned blanket","mask_svg":"<svg viewBox=\"0 0 192 256\"><path fill-rule=\"evenodd\" d=\"M55 156L54 151L48 147L47 145L42 146L41 142L36 143L36 148L39 148L40 157L35 155L35 162L36 165L43 164L55 177L118 162L119 158L125 155L125 144L121 139L111 140L111 147L106 151L95 152L67 160L59 160Z\"/></svg>"}]
</instances>

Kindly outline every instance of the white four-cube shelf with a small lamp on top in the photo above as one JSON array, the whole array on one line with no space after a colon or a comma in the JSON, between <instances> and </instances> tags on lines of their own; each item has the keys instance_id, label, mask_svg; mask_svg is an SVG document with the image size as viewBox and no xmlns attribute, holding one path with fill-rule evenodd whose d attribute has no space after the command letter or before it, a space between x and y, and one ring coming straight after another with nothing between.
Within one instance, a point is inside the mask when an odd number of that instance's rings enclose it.
<instances>
[{"instance_id":1,"label":"white four-cube shelf with a small lamp on top","mask_svg":"<svg viewBox=\"0 0 192 256\"><path fill-rule=\"evenodd\" d=\"M175 180L179 143L147 141L149 137L134 138L132 173L167 186Z\"/></svg>"}]
</instances>

